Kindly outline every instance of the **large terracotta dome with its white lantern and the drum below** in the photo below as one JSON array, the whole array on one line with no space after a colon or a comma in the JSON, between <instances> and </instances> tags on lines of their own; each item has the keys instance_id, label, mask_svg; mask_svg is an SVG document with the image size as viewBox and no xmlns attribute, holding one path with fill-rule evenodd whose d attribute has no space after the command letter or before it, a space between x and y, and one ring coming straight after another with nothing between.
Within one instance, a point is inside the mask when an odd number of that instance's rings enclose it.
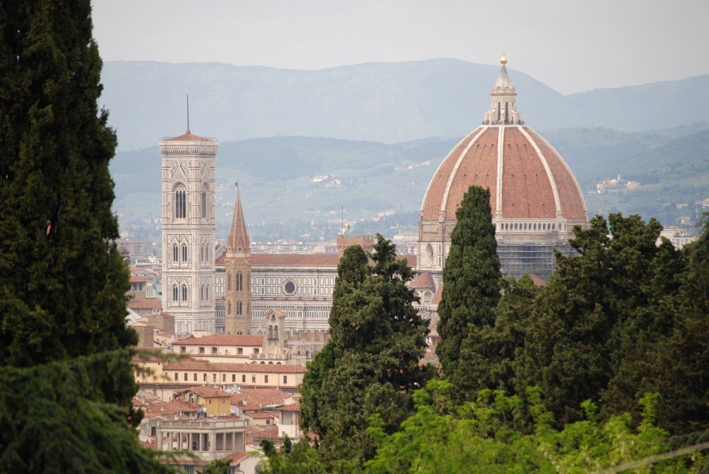
<instances>
[{"instance_id":1,"label":"large terracotta dome with its white lantern and the drum below","mask_svg":"<svg viewBox=\"0 0 709 474\"><path fill-rule=\"evenodd\" d=\"M587 225L581 188L552 145L525 126L515 107L515 86L500 60L492 106L479 128L464 137L438 167L428 185L418 226L419 273L436 288L456 224L455 211L472 185L490 188L490 207L503 276L554 270L553 248L574 253L568 243L574 225Z\"/></svg>"}]
</instances>

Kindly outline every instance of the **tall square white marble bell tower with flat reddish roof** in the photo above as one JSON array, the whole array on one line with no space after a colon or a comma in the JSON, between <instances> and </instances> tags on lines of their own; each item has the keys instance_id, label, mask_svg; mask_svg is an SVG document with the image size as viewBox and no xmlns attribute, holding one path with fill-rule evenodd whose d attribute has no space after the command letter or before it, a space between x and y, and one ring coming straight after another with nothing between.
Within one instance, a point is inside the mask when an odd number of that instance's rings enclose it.
<instances>
[{"instance_id":1,"label":"tall square white marble bell tower with flat reddish roof","mask_svg":"<svg viewBox=\"0 0 709 474\"><path fill-rule=\"evenodd\" d=\"M188 130L160 140L162 308L175 332L214 332L214 188L218 142Z\"/></svg>"}]
</instances>

